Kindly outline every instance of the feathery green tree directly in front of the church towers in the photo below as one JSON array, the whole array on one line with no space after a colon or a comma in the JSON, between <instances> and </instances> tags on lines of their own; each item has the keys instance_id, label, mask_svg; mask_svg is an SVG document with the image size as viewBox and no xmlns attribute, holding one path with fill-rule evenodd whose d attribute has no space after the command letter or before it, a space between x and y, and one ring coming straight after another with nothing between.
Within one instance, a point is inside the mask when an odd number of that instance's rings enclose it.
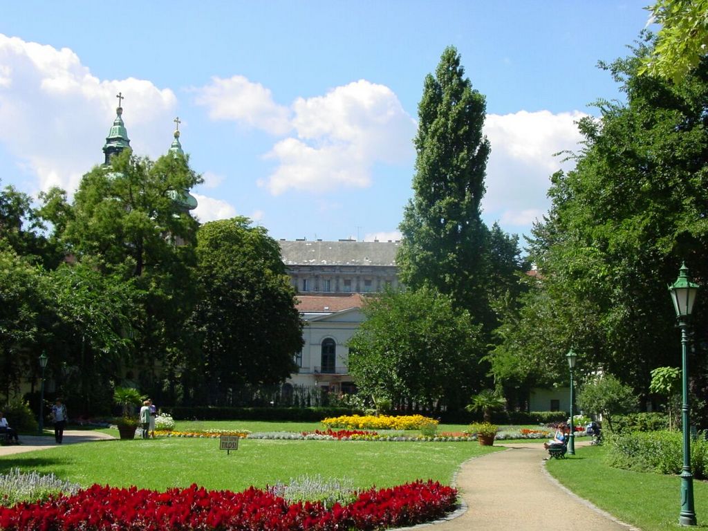
<instances>
[{"instance_id":1,"label":"feathery green tree directly in front of the church towers","mask_svg":"<svg viewBox=\"0 0 708 531\"><path fill-rule=\"evenodd\" d=\"M195 297L198 223L174 198L200 182L184 156L152 161L126 149L110 167L84 176L70 208L61 193L45 197L45 215L63 228L60 237L76 261L89 261L112 283L130 282L132 368L150 394L161 387L158 365L189 341L183 331Z\"/></svg>"}]
</instances>

